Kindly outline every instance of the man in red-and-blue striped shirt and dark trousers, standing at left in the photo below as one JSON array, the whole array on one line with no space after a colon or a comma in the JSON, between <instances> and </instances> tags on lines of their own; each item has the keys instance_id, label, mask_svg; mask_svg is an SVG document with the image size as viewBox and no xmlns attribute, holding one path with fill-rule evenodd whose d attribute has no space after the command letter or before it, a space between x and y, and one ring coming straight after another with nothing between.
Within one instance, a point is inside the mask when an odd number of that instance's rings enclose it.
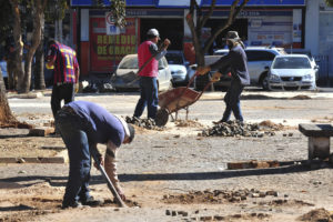
<instances>
[{"instance_id":1,"label":"man in red-and-blue striped shirt and dark trousers, standing at left","mask_svg":"<svg viewBox=\"0 0 333 222\"><path fill-rule=\"evenodd\" d=\"M77 53L68 46L56 40L48 43L47 68L53 69L53 88L51 95L51 109L53 118L64 104L74 101L75 83L79 81L80 68Z\"/></svg>"}]
</instances>

